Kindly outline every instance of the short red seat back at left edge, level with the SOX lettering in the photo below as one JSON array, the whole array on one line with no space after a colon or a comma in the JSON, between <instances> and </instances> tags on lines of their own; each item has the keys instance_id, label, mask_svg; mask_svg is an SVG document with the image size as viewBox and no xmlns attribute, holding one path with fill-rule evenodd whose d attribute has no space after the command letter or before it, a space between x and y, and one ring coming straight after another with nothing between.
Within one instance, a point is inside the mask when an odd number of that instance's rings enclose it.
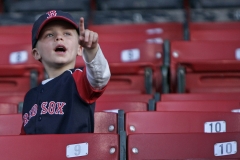
<instances>
[{"instance_id":1,"label":"short red seat back at left edge, level with the SOX lettering","mask_svg":"<svg viewBox=\"0 0 240 160\"><path fill-rule=\"evenodd\" d=\"M1 114L14 114L18 113L17 103L2 103L0 102L0 115Z\"/></svg>"}]
</instances>

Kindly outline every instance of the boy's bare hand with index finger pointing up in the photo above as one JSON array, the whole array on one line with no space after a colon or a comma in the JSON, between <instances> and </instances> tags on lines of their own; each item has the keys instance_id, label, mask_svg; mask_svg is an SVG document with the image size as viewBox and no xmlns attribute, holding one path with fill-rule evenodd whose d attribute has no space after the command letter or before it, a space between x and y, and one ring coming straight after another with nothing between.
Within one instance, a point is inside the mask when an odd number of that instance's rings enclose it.
<instances>
[{"instance_id":1,"label":"boy's bare hand with index finger pointing up","mask_svg":"<svg viewBox=\"0 0 240 160\"><path fill-rule=\"evenodd\" d=\"M87 50L96 50L98 47L98 34L84 28L84 19L80 18L79 44Z\"/></svg>"}]
</instances>

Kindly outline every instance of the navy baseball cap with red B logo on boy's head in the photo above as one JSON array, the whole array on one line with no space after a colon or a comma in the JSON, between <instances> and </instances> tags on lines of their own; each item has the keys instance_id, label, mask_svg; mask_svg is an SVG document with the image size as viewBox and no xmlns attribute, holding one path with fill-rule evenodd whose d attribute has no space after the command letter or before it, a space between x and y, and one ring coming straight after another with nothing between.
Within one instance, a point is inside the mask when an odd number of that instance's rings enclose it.
<instances>
[{"instance_id":1,"label":"navy baseball cap with red B logo on boy's head","mask_svg":"<svg viewBox=\"0 0 240 160\"><path fill-rule=\"evenodd\" d=\"M61 10L48 11L47 13L44 13L43 15L41 15L33 24L33 28L32 28L32 48L36 47L36 44L37 44L37 41L38 41L38 38L39 38L39 34L40 34L42 28L48 22L50 22L52 20L66 21L66 22L72 24L78 32L78 25L69 13L63 12Z\"/></svg>"}]
</instances>

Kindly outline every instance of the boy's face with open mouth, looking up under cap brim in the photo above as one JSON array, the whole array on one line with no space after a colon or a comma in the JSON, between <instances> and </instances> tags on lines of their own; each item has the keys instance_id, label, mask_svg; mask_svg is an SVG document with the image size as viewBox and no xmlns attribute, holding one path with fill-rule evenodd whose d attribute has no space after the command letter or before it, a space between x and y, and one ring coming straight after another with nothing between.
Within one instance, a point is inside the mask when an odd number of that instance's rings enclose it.
<instances>
[{"instance_id":1,"label":"boy's face with open mouth, looking up under cap brim","mask_svg":"<svg viewBox=\"0 0 240 160\"><path fill-rule=\"evenodd\" d=\"M45 67L75 66L77 55L81 55L78 33L68 22L55 20L47 23L40 32L33 56Z\"/></svg>"}]
</instances>

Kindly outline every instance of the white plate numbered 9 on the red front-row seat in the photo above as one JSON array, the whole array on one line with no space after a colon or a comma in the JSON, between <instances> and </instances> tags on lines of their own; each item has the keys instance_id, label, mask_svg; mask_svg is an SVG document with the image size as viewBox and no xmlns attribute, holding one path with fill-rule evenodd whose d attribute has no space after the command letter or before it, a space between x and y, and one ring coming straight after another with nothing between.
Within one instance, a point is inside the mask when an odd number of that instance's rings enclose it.
<instances>
[{"instance_id":1,"label":"white plate numbered 9 on the red front-row seat","mask_svg":"<svg viewBox=\"0 0 240 160\"><path fill-rule=\"evenodd\" d=\"M66 157L80 157L88 155L88 143L71 144L66 147Z\"/></svg>"}]
</instances>

